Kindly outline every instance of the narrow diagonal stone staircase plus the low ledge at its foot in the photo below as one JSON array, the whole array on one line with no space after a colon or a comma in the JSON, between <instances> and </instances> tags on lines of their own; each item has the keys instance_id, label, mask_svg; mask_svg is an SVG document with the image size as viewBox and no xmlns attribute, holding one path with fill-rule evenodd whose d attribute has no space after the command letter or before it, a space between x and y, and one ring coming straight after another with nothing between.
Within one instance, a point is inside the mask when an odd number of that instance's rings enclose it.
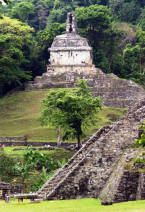
<instances>
[{"instance_id":1,"label":"narrow diagonal stone staircase plus the low ledge at its foot","mask_svg":"<svg viewBox=\"0 0 145 212\"><path fill-rule=\"evenodd\" d=\"M56 174L52 176L37 192L30 194L14 194L7 196L6 202L10 198L17 198L19 200L31 199L35 200L48 200L54 195L55 191L61 186L71 173L79 167L79 165L86 159L87 155L92 151L94 143L100 137L104 137L111 130L111 126L102 127L94 133L87 141L85 139L81 149L66 163L63 168L60 168Z\"/></svg>"}]
</instances>

